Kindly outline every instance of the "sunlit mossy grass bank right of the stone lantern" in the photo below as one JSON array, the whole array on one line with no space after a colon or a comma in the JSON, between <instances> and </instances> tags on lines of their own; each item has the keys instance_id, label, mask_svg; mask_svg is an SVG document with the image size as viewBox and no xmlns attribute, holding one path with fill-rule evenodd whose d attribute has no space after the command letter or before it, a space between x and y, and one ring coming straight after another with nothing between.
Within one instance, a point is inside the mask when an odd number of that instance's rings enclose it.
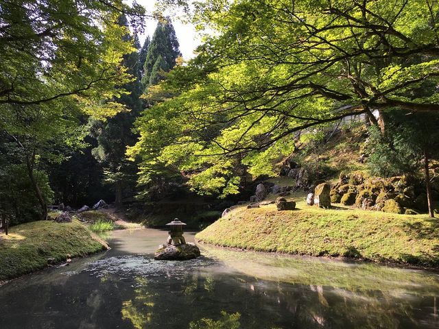
<instances>
[{"instance_id":1,"label":"sunlit mossy grass bank right of the stone lantern","mask_svg":"<svg viewBox=\"0 0 439 329\"><path fill-rule=\"evenodd\" d=\"M196 235L224 247L309 256L345 256L439 267L439 220L337 205L324 210L298 202L297 210L274 204L233 209Z\"/></svg>"}]
</instances>

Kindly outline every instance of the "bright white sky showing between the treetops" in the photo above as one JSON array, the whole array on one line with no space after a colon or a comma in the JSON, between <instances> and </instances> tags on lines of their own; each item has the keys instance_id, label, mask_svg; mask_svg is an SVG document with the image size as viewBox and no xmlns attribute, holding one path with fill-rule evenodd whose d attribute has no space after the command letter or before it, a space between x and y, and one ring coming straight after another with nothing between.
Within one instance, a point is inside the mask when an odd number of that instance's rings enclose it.
<instances>
[{"instance_id":1,"label":"bright white sky showing between the treetops","mask_svg":"<svg viewBox=\"0 0 439 329\"><path fill-rule=\"evenodd\" d=\"M154 5L156 1L137 0L137 3L143 5L143 7L146 8L147 12L152 12L154 10ZM176 19L172 21L172 24L174 25L174 29L176 30L183 59L189 60L195 57L193 50L201 43L197 32L195 32L195 27L191 24L183 24ZM145 41L147 35L152 37L152 35L154 34L154 30L156 29L156 25L157 22L152 19L146 21L145 34L143 36L139 36L141 45L143 45L143 42Z\"/></svg>"}]
</instances>

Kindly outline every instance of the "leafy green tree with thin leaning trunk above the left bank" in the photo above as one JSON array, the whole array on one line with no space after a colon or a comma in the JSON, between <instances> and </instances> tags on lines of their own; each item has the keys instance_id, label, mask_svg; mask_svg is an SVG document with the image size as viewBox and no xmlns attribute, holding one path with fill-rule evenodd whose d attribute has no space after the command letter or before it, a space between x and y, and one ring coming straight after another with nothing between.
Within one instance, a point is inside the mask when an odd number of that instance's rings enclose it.
<instances>
[{"instance_id":1,"label":"leafy green tree with thin leaning trunk above the left bank","mask_svg":"<svg viewBox=\"0 0 439 329\"><path fill-rule=\"evenodd\" d=\"M0 1L0 130L16 145L47 217L47 196L35 175L60 160L58 145L79 145L78 119L123 110L110 101L130 81L121 66L132 51L122 40L121 12L136 25L144 10L122 1Z\"/></svg>"}]
</instances>

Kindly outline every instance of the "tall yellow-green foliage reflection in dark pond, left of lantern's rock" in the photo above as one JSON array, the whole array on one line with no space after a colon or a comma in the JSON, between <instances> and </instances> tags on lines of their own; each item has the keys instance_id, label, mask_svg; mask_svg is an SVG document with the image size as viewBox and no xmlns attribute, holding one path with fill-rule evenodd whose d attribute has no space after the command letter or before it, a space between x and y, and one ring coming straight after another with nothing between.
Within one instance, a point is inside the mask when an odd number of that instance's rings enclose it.
<instances>
[{"instance_id":1,"label":"tall yellow-green foliage reflection in dark pond, left of lantern's rock","mask_svg":"<svg viewBox=\"0 0 439 329\"><path fill-rule=\"evenodd\" d=\"M149 282L145 278L135 279L137 288L134 289L134 297L122 302L122 319L128 319L136 329L145 328L152 321L152 308L156 293L150 292Z\"/></svg>"}]
</instances>

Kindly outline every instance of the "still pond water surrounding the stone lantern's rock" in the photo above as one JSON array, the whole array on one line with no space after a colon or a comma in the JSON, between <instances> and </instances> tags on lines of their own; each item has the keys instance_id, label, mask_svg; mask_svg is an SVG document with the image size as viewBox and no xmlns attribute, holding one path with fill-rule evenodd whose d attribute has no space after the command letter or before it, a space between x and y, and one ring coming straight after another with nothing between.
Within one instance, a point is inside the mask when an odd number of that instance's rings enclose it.
<instances>
[{"instance_id":1,"label":"still pond water surrounding the stone lantern's rock","mask_svg":"<svg viewBox=\"0 0 439 329\"><path fill-rule=\"evenodd\" d=\"M193 234L185 234L193 241ZM162 230L0 287L0 328L439 328L438 273L202 245L155 261Z\"/></svg>"}]
</instances>

